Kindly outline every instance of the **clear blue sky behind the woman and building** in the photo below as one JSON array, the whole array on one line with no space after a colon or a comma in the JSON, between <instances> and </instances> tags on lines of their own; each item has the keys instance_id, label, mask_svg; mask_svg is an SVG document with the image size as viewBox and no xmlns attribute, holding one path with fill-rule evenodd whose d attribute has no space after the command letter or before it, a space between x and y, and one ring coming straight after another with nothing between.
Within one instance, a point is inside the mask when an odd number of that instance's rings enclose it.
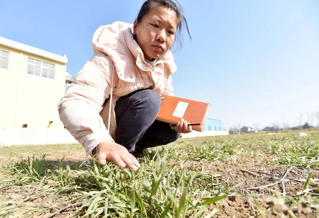
<instances>
[{"instance_id":1,"label":"clear blue sky behind the woman and building","mask_svg":"<svg viewBox=\"0 0 319 218\"><path fill-rule=\"evenodd\" d=\"M59 55L75 75L100 25L133 22L142 0L4 1L0 36ZM193 40L174 53L175 96L211 103L226 129L317 124L318 1L180 0ZM302 114L300 119L300 114Z\"/></svg>"}]
</instances>

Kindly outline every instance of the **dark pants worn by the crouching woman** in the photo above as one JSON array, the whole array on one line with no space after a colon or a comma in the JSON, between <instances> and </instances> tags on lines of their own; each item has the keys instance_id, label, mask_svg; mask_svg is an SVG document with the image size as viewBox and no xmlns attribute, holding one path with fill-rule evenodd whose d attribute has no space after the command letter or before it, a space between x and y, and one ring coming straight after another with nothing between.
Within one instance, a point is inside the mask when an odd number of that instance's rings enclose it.
<instances>
[{"instance_id":1,"label":"dark pants worn by the crouching woman","mask_svg":"<svg viewBox=\"0 0 319 218\"><path fill-rule=\"evenodd\" d=\"M169 124L155 120L160 107L159 95L152 89L141 89L116 101L117 128L115 142L130 153L166 145L180 137Z\"/></svg>"}]
</instances>

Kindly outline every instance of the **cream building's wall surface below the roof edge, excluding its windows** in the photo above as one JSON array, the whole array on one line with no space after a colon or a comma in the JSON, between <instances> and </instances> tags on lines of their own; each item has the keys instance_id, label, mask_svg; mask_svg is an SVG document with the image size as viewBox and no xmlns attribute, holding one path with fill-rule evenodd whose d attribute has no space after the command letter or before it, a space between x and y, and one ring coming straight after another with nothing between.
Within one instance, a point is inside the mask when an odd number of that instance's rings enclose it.
<instances>
[{"instance_id":1,"label":"cream building's wall surface below the roof edge, excluding its windows","mask_svg":"<svg viewBox=\"0 0 319 218\"><path fill-rule=\"evenodd\" d=\"M0 128L64 128L57 105L65 92L66 64L0 45L9 52L8 69L0 68ZM27 73L28 57L55 65L54 79Z\"/></svg>"}]
</instances>

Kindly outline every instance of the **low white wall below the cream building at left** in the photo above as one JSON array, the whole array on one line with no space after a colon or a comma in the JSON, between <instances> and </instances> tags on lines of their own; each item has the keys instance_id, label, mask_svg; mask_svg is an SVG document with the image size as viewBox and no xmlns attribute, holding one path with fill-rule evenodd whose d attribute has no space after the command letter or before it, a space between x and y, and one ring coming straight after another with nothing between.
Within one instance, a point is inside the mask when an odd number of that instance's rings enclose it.
<instances>
[{"instance_id":1,"label":"low white wall below the cream building at left","mask_svg":"<svg viewBox=\"0 0 319 218\"><path fill-rule=\"evenodd\" d=\"M79 143L66 129L0 129L0 146Z\"/></svg>"}]
</instances>

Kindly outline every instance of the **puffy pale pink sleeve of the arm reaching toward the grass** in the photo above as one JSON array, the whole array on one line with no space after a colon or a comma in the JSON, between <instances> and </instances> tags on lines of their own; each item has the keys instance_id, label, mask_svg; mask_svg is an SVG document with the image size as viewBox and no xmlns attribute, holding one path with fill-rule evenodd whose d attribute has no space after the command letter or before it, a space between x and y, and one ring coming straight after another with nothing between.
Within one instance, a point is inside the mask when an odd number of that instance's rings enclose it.
<instances>
[{"instance_id":1,"label":"puffy pale pink sleeve of the arm reaching toward the grass","mask_svg":"<svg viewBox=\"0 0 319 218\"><path fill-rule=\"evenodd\" d=\"M77 73L58 105L60 120L84 146L86 156L101 142L114 142L99 114L110 95L112 72L111 59L102 52L95 52Z\"/></svg>"}]
</instances>

